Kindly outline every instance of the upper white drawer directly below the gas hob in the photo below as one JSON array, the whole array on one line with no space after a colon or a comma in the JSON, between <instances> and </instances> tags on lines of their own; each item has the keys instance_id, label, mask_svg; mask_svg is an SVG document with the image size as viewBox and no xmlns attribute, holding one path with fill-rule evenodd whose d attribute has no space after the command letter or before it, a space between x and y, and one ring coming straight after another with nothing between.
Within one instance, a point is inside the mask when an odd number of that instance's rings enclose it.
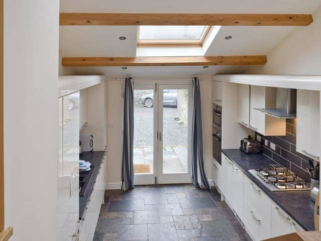
<instances>
[{"instance_id":1,"label":"upper white drawer directly below the gas hob","mask_svg":"<svg viewBox=\"0 0 321 241\"><path fill-rule=\"evenodd\" d=\"M248 177L244 177L244 199L261 217L271 220L271 199Z\"/></svg>"}]
</instances>

